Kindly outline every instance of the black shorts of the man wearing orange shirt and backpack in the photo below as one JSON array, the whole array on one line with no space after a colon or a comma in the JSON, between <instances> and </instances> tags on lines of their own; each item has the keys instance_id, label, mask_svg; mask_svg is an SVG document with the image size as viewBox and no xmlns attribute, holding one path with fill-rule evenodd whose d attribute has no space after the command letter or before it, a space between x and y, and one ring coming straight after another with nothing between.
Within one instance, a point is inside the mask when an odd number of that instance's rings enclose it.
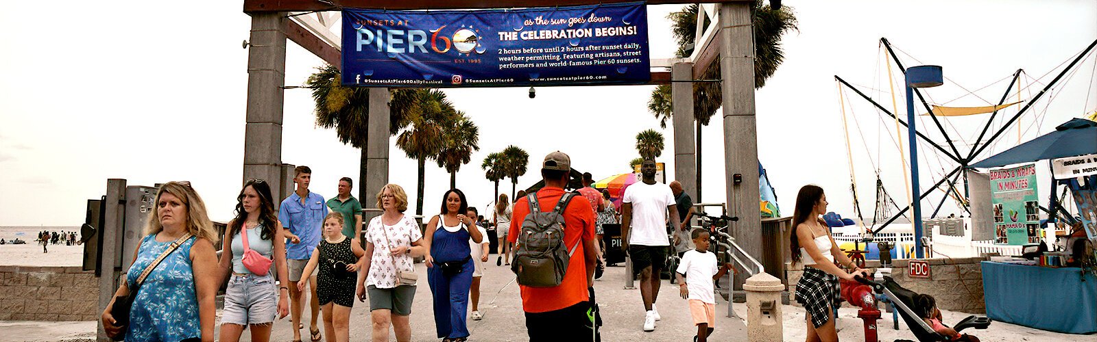
<instances>
[{"instance_id":1,"label":"black shorts of the man wearing orange shirt and backpack","mask_svg":"<svg viewBox=\"0 0 1097 342\"><path fill-rule=\"evenodd\" d=\"M589 301L547 312L525 312L525 330L530 342L539 341L596 341L590 318Z\"/></svg>"}]
</instances>

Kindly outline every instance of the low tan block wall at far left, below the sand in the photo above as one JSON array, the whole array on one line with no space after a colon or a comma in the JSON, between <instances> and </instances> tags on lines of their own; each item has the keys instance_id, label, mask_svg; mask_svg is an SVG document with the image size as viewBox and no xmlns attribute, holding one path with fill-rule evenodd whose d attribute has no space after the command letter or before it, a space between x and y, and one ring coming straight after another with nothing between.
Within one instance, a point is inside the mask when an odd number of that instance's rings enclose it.
<instances>
[{"instance_id":1,"label":"low tan block wall at far left, below the sand","mask_svg":"<svg viewBox=\"0 0 1097 342\"><path fill-rule=\"evenodd\" d=\"M79 266L0 266L0 321L99 320L98 285Z\"/></svg>"}]
</instances>

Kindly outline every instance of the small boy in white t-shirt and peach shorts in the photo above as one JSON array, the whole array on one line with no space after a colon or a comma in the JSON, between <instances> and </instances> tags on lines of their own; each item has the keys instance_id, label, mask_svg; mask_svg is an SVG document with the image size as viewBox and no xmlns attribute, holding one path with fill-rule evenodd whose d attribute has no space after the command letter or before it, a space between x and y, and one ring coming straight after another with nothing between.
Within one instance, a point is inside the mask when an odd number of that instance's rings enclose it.
<instances>
[{"instance_id":1,"label":"small boy in white t-shirt and peach shorts","mask_svg":"<svg viewBox=\"0 0 1097 342\"><path fill-rule=\"evenodd\" d=\"M724 276L735 267L726 263L716 266L716 255L709 252L709 231L698 228L690 232L694 250L682 255L678 270L675 271L682 299L689 299L689 312L697 326L697 337L693 341L704 342L716 324L716 299L713 293L713 282Z\"/></svg>"}]
</instances>

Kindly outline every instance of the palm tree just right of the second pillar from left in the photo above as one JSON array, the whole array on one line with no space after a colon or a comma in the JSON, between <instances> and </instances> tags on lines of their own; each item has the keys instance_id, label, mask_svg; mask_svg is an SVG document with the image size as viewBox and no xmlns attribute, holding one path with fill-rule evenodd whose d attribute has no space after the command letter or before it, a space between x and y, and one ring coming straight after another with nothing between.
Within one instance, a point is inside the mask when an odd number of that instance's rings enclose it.
<instances>
[{"instance_id":1,"label":"palm tree just right of the second pillar from left","mask_svg":"<svg viewBox=\"0 0 1097 342\"><path fill-rule=\"evenodd\" d=\"M402 114L405 115L408 124L396 137L396 146L404 150L408 158L419 162L416 214L422 215L423 187L426 186L423 173L426 172L427 159L437 159L442 151L444 147L443 129L446 123L453 121L455 111L450 101L445 99L445 93L437 89L415 90L414 100L406 105L407 107L402 109Z\"/></svg>"}]
</instances>

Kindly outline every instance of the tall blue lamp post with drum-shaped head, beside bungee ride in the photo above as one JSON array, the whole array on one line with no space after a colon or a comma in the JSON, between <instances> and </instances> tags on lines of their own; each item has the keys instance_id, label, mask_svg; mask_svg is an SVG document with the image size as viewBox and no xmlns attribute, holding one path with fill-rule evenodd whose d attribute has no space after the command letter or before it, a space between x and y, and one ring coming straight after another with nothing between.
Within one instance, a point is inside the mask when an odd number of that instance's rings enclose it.
<instances>
[{"instance_id":1,"label":"tall blue lamp post with drum-shaped head, beside bungee ride","mask_svg":"<svg viewBox=\"0 0 1097 342\"><path fill-rule=\"evenodd\" d=\"M914 89L932 88L943 84L940 66L917 66L906 69L906 122L907 140L911 144L911 189L914 194L914 253L925 258L921 244L921 190L918 186L918 137L914 126Z\"/></svg>"}]
</instances>

